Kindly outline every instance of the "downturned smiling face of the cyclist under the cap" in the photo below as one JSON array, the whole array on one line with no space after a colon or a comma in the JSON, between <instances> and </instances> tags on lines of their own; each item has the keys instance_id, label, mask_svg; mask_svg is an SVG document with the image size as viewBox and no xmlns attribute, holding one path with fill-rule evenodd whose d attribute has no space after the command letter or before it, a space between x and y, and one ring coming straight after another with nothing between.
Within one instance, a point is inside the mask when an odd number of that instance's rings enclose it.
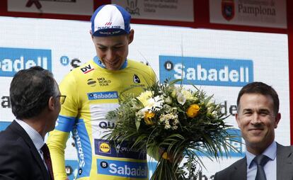
<instances>
[{"instance_id":1,"label":"downturned smiling face of the cyclist under the cap","mask_svg":"<svg viewBox=\"0 0 293 180\"><path fill-rule=\"evenodd\" d=\"M96 37L92 35L93 44L96 48L98 58L105 68L118 70L122 67L128 55L128 45L132 43L134 30L128 35L117 35L108 37Z\"/></svg>"}]
</instances>

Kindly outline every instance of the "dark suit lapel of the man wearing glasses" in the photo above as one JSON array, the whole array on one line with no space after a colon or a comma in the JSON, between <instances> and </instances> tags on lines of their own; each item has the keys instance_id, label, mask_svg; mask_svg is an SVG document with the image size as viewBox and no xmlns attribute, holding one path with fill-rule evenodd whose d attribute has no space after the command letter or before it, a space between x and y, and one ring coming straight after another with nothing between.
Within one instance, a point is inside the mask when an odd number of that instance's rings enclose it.
<instances>
[{"instance_id":1,"label":"dark suit lapel of the man wearing glasses","mask_svg":"<svg viewBox=\"0 0 293 180\"><path fill-rule=\"evenodd\" d=\"M16 132L19 136L23 137L23 140L25 140L28 147L30 147L30 152L32 153L33 158L36 162L38 162L38 166L42 170L43 178L48 179L49 173L45 167L44 162L42 161L42 158L40 157L40 153L38 152L37 148L35 148L35 145L33 144L33 140L30 139L30 136L28 136L28 133L25 132L25 130L16 123L15 120L9 125L9 128ZM45 176L47 174L47 176Z\"/></svg>"}]
</instances>

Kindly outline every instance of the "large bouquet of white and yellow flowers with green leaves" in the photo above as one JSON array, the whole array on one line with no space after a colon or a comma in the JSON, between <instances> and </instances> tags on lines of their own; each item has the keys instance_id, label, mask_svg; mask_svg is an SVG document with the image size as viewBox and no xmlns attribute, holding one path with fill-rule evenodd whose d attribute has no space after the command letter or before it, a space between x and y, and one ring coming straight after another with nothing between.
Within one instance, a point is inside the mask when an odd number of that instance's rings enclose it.
<instances>
[{"instance_id":1,"label":"large bouquet of white and yellow flowers with green leaves","mask_svg":"<svg viewBox=\"0 0 293 180\"><path fill-rule=\"evenodd\" d=\"M195 86L191 91L177 81L158 82L139 96L124 96L107 116L117 118L109 140L118 145L132 141L130 148L146 148L158 160L151 179L193 179L195 164L204 165L197 152L217 159L233 149L219 104Z\"/></svg>"}]
</instances>

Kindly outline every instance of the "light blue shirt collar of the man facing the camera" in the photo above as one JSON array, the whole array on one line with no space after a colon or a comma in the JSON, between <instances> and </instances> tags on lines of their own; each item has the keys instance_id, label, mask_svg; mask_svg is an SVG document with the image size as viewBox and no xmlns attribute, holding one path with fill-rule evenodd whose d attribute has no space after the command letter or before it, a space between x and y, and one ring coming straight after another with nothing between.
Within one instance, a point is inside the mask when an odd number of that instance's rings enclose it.
<instances>
[{"instance_id":1,"label":"light blue shirt collar of the man facing the camera","mask_svg":"<svg viewBox=\"0 0 293 180\"><path fill-rule=\"evenodd\" d=\"M272 144L270 144L270 146L267 149L265 149L265 151L262 154L266 155L271 160L274 160L275 157L277 156L277 143L273 141ZM255 157L255 154L252 154L251 152L246 151L246 161L247 161L248 168L253 167L253 164L255 164L253 162L254 157Z\"/></svg>"}]
</instances>

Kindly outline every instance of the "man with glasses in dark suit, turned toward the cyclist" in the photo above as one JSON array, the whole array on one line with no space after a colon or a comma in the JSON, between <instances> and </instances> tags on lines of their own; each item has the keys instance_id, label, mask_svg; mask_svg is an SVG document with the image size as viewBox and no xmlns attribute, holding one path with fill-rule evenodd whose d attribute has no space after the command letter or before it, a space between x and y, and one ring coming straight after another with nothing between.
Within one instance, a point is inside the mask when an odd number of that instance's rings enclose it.
<instances>
[{"instance_id":1,"label":"man with glasses in dark suit, turned toward the cyclist","mask_svg":"<svg viewBox=\"0 0 293 180\"><path fill-rule=\"evenodd\" d=\"M0 133L0 179L53 179L44 137L54 129L65 97L42 67L16 73L10 97L16 120Z\"/></svg>"}]
</instances>

